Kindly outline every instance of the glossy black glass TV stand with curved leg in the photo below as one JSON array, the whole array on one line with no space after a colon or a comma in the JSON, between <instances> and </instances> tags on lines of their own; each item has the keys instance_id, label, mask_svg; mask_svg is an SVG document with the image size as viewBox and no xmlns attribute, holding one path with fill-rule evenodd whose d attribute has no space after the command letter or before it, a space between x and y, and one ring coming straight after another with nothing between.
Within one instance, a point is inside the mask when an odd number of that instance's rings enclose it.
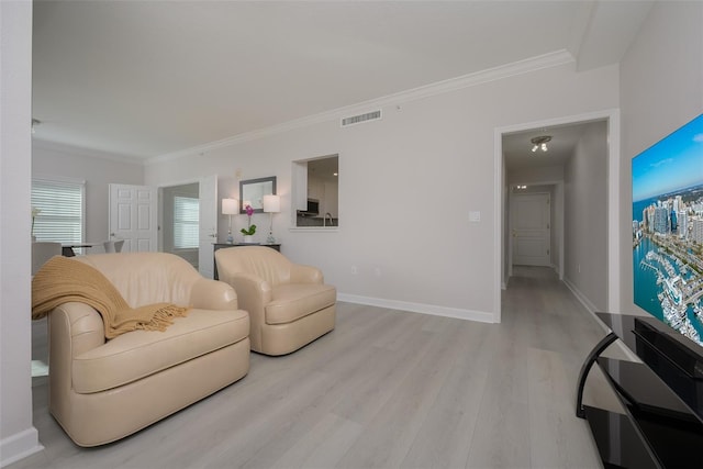
<instances>
[{"instance_id":1,"label":"glossy black glass TV stand with curved leg","mask_svg":"<svg viewBox=\"0 0 703 469\"><path fill-rule=\"evenodd\" d=\"M596 316L611 332L581 367L576 413L588 421L604 467L703 468L700 353L656 319ZM644 362L601 357L616 339ZM605 375L624 414L583 405L583 388L593 364Z\"/></svg>"}]
</instances>

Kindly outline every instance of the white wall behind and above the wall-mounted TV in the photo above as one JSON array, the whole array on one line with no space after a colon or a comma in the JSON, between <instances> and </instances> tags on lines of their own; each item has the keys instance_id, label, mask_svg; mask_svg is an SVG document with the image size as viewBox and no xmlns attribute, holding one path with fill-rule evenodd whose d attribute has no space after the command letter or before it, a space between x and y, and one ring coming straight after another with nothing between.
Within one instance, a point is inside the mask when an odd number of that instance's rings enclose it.
<instances>
[{"instance_id":1,"label":"white wall behind and above the wall-mounted TV","mask_svg":"<svg viewBox=\"0 0 703 469\"><path fill-rule=\"evenodd\" d=\"M703 112L703 2L657 2L621 63L622 311L633 300L631 160Z\"/></svg>"}]
</instances>

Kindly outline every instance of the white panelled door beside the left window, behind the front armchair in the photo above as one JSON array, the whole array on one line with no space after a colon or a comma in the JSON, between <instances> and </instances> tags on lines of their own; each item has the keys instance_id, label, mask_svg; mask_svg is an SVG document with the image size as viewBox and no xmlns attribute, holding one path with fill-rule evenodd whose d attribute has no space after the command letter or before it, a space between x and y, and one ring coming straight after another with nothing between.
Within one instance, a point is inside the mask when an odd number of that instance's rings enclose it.
<instances>
[{"instance_id":1,"label":"white panelled door beside the left window, behind the front armchair","mask_svg":"<svg viewBox=\"0 0 703 469\"><path fill-rule=\"evenodd\" d=\"M123 253L158 250L156 215L156 188L110 185L110 239L124 239Z\"/></svg>"}]
</instances>

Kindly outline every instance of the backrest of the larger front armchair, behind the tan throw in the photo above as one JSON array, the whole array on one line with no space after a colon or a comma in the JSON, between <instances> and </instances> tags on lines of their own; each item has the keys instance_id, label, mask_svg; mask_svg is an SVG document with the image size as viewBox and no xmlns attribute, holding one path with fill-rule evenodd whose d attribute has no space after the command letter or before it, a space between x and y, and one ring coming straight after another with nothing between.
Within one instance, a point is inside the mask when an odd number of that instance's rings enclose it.
<instances>
[{"instance_id":1,"label":"backrest of the larger front armchair, behind the tan throw","mask_svg":"<svg viewBox=\"0 0 703 469\"><path fill-rule=\"evenodd\" d=\"M186 259L168 253L114 253L77 256L104 275L132 306L170 302L189 305L202 276Z\"/></svg>"}]
</instances>

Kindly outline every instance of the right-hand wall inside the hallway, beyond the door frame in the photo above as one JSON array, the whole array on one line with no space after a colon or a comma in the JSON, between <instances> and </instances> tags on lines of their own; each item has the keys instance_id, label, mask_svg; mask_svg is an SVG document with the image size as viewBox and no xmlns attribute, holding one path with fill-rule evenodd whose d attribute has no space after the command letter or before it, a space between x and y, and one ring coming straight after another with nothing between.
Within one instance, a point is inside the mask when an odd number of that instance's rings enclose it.
<instances>
[{"instance_id":1,"label":"right-hand wall inside the hallway, beyond the door frame","mask_svg":"<svg viewBox=\"0 0 703 469\"><path fill-rule=\"evenodd\" d=\"M565 166L565 281L607 308L607 123L588 124ZM632 264L632 263L631 263Z\"/></svg>"}]
</instances>

